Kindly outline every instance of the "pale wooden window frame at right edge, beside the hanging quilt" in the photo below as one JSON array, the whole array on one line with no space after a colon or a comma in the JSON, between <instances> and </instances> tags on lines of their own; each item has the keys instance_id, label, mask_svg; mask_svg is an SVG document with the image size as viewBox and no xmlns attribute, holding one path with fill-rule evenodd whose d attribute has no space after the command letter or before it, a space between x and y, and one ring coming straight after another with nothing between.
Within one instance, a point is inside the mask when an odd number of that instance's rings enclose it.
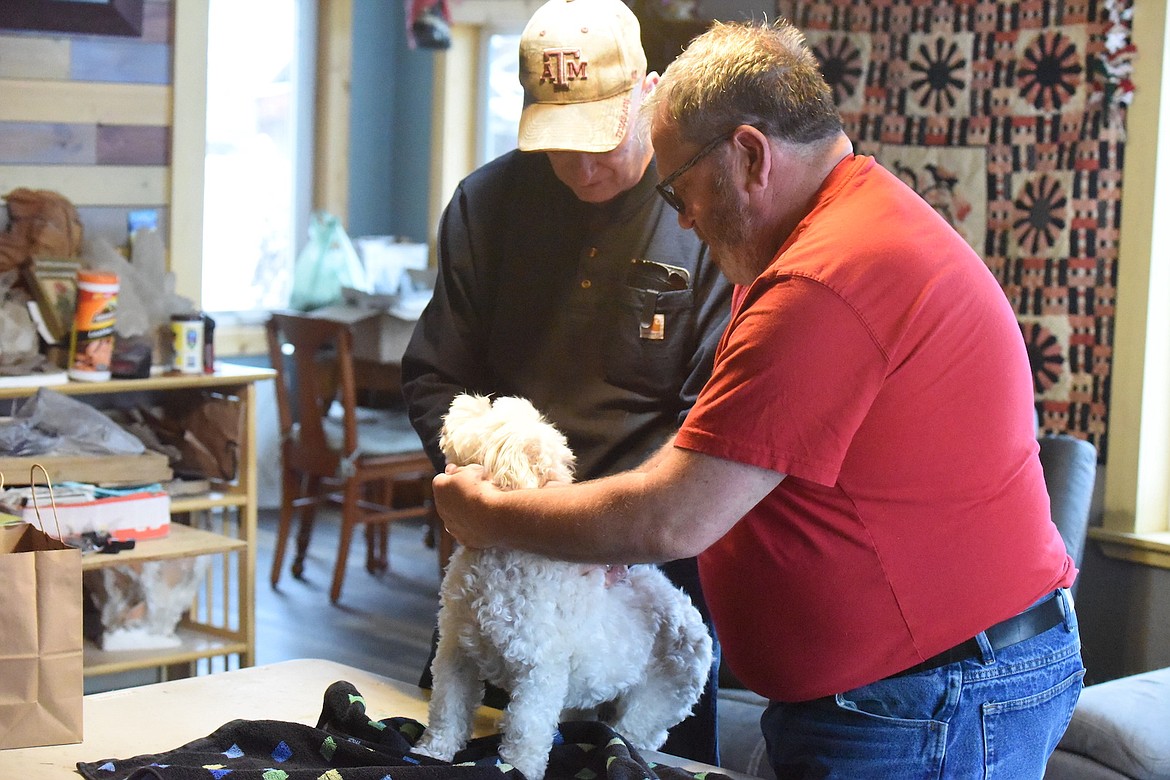
<instances>
[{"instance_id":1,"label":"pale wooden window frame at right edge, beside the hanging quilt","mask_svg":"<svg viewBox=\"0 0 1170 780\"><path fill-rule=\"evenodd\" d=\"M1135 4L1103 517L1106 554L1170 568L1170 110L1166 2ZM1161 215L1161 219L1158 219Z\"/></svg>"}]
</instances>

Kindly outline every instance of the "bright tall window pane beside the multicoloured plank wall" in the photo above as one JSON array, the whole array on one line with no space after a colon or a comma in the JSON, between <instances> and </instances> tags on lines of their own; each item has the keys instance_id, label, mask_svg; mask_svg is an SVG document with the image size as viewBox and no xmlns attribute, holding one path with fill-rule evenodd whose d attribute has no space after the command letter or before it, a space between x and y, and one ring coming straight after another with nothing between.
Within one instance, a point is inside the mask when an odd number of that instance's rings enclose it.
<instances>
[{"instance_id":1,"label":"bright tall window pane beside the multicoloured plank wall","mask_svg":"<svg viewBox=\"0 0 1170 780\"><path fill-rule=\"evenodd\" d=\"M211 0L204 181L204 310L288 305L308 223L309 0Z\"/></svg>"}]
</instances>

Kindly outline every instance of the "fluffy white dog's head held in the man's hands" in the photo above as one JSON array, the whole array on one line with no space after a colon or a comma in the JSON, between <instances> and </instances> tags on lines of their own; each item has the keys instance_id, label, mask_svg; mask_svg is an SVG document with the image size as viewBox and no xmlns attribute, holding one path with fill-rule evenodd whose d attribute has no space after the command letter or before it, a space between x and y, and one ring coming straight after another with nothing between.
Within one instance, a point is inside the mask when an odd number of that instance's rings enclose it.
<instances>
[{"instance_id":1,"label":"fluffy white dog's head held in the man's hands","mask_svg":"<svg viewBox=\"0 0 1170 780\"><path fill-rule=\"evenodd\" d=\"M479 463L502 490L571 482L573 454L564 435L522 398L494 402L456 395L443 417L439 447L448 463Z\"/></svg>"}]
</instances>

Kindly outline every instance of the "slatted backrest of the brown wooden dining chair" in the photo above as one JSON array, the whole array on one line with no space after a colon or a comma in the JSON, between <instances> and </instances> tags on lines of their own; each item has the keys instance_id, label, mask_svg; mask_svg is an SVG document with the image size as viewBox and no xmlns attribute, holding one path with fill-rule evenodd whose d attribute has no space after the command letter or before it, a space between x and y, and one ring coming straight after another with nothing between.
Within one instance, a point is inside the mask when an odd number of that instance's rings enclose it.
<instances>
[{"instance_id":1,"label":"slatted backrest of the brown wooden dining chair","mask_svg":"<svg viewBox=\"0 0 1170 780\"><path fill-rule=\"evenodd\" d=\"M333 476L358 446L352 333L344 323L291 312L273 313L267 331L285 465ZM335 400L343 450L330 447L323 424Z\"/></svg>"}]
</instances>

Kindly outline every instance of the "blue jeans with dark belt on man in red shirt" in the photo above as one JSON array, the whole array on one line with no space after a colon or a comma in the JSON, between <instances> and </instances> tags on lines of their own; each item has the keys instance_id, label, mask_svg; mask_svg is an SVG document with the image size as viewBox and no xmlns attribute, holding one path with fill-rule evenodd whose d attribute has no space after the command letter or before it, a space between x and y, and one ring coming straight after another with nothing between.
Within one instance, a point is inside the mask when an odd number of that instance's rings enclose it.
<instances>
[{"instance_id":1,"label":"blue jeans with dark belt on man in red shirt","mask_svg":"<svg viewBox=\"0 0 1170 780\"><path fill-rule=\"evenodd\" d=\"M1081 691L1076 614L980 658L812 702L772 702L760 718L779 780L889 778L1039 780Z\"/></svg>"}]
</instances>

